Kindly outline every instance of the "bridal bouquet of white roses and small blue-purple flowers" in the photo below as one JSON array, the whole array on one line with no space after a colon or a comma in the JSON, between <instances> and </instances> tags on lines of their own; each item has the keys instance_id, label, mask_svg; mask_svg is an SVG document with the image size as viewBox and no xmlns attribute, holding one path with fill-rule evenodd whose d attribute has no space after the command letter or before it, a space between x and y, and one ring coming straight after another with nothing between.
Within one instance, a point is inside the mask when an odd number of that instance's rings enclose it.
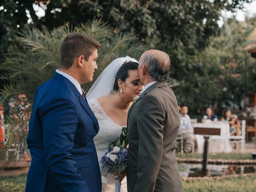
<instances>
[{"instance_id":1,"label":"bridal bouquet of white roses and small blue-purple flowers","mask_svg":"<svg viewBox=\"0 0 256 192\"><path fill-rule=\"evenodd\" d=\"M108 151L102 156L100 163L102 164L102 168L106 169L107 174L118 174L125 170L127 167L127 144L128 144L128 136L127 136L127 128L122 128L122 134L120 137L113 142L110 143ZM106 174L106 175L107 175ZM106 183L107 178L102 176L102 182ZM118 176L115 176L116 178ZM119 180L115 182L115 192L120 192L121 183Z\"/></svg>"}]
</instances>

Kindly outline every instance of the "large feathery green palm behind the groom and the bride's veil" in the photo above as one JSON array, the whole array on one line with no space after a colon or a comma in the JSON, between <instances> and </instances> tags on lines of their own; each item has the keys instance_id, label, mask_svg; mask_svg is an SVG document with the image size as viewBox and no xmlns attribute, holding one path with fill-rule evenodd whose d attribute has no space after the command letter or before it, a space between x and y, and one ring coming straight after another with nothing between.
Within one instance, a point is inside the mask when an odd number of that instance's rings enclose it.
<instances>
[{"instance_id":1,"label":"large feathery green palm behind the groom and the bride's veil","mask_svg":"<svg viewBox=\"0 0 256 192\"><path fill-rule=\"evenodd\" d=\"M148 48L138 42L134 34L117 34L101 20L74 28L66 24L52 31L44 26L42 30L22 30L17 37L16 49L6 54L4 62L0 63L1 70L5 72L0 78L10 82L0 91L0 103L4 104L6 111L5 140L0 148L0 160L15 161L27 151L26 136L35 90L50 79L59 67L58 48L71 32L83 32L102 44L98 51L98 70L94 80L115 58L129 55L138 59ZM84 90L89 90L92 83L85 84Z\"/></svg>"}]
</instances>

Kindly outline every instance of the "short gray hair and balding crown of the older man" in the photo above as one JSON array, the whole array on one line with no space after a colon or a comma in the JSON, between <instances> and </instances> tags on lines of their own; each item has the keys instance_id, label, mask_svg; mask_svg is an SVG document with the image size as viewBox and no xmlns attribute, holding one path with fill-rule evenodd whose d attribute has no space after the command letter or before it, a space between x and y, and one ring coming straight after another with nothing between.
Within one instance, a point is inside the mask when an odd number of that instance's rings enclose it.
<instances>
[{"instance_id":1,"label":"short gray hair and balding crown of the older man","mask_svg":"<svg viewBox=\"0 0 256 192\"><path fill-rule=\"evenodd\" d=\"M142 64L146 67L148 74L154 81L169 81L170 80L170 67L171 61L168 54L162 52L163 54L144 54L142 56Z\"/></svg>"}]
</instances>

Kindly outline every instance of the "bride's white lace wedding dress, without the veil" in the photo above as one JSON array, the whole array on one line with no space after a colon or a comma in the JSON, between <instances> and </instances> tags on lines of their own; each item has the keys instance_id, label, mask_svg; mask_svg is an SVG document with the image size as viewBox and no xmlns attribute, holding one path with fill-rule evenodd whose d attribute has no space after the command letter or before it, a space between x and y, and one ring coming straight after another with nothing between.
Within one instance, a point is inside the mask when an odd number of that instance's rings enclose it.
<instances>
[{"instance_id":1,"label":"bride's white lace wedding dress, without the veil","mask_svg":"<svg viewBox=\"0 0 256 192\"><path fill-rule=\"evenodd\" d=\"M109 116L106 115L100 103L97 99L90 99L88 101L92 112L96 116L100 130L98 134L94 137L94 143L96 146L96 151L98 155L98 161L100 162L101 157L106 153L108 150L109 144L120 137L122 133L122 126L116 124ZM106 170L101 168L100 164L100 172L101 176L106 175ZM115 180L114 175L108 174L106 176L108 178L108 183L102 183L102 192L114 192L115 190ZM126 178L122 180L121 192L127 192L127 184Z\"/></svg>"}]
</instances>

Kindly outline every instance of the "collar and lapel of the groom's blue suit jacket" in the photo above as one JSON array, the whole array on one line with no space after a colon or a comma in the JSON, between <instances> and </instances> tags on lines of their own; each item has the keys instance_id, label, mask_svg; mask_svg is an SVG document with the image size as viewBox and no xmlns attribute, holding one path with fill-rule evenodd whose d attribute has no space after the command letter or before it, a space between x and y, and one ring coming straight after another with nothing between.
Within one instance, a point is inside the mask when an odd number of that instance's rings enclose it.
<instances>
[{"instance_id":1,"label":"collar and lapel of the groom's blue suit jacket","mask_svg":"<svg viewBox=\"0 0 256 192\"><path fill-rule=\"evenodd\" d=\"M64 82L65 84L67 84L73 90L75 95L79 98L80 104L82 105L84 110L86 110L87 114L90 116L90 118L94 122L94 128L97 130L97 133L98 133L98 131L99 131L98 120L95 117L95 115L93 114L90 106L88 105L87 100L84 100L84 98L82 97L80 92L77 90L76 86L74 86L74 84L70 80L68 80L68 78L64 77L61 74L58 74L57 72L54 73L54 78L61 81L61 82Z\"/></svg>"}]
</instances>

